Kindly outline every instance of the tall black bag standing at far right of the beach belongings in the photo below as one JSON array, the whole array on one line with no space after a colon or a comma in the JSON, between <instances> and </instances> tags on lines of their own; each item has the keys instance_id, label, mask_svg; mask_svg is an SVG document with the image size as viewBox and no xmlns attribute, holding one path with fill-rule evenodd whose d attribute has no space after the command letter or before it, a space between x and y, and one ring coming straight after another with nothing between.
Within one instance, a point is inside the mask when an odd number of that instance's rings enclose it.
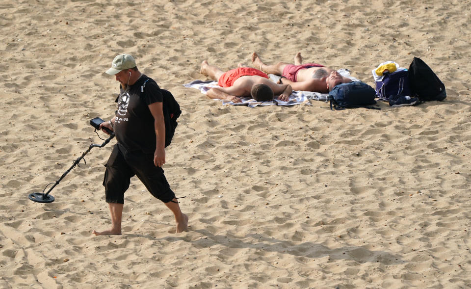
<instances>
[{"instance_id":1,"label":"tall black bag standing at far right of the beach belongings","mask_svg":"<svg viewBox=\"0 0 471 289\"><path fill-rule=\"evenodd\" d=\"M446 98L445 85L418 57L414 57L409 66L409 82L412 93L420 101L443 101Z\"/></svg>"}]
</instances>

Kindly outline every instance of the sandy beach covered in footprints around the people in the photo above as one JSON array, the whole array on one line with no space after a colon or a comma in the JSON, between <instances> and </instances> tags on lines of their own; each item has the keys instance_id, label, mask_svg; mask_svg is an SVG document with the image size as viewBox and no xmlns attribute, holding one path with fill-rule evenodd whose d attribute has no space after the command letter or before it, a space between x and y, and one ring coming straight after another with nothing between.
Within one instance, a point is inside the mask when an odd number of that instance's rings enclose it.
<instances>
[{"instance_id":1,"label":"sandy beach covered in footprints around the people","mask_svg":"<svg viewBox=\"0 0 471 289\"><path fill-rule=\"evenodd\" d=\"M471 288L471 2L0 0L0 288ZM371 70L424 60L444 102L332 111L328 103L222 105L183 87L203 60ZM165 176L189 217L137 179L123 235L102 185L115 139L114 56L183 113ZM104 133L100 133L103 137Z\"/></svg>"}]
</instances>

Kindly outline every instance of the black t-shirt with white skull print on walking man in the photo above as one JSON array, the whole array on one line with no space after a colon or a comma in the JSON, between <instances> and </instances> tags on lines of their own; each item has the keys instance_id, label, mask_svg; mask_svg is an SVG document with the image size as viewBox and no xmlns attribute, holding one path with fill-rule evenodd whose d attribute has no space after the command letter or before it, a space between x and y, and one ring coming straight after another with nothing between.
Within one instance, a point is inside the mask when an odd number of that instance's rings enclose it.
<instances>
[{"instance_id":1,"label":"black t-shirt with white skull print on walking man","mask_svg":"<svg viewBox=\"0 0 471 289\"><path fill-rule=\"evenodd\" d=\"M160 88L156 81L142 75L128 89L120 90L114 122L116 140L129 151L153 154L156 150L156 131L148 105L162 102Z\"/></svg>"}]
</instances>

